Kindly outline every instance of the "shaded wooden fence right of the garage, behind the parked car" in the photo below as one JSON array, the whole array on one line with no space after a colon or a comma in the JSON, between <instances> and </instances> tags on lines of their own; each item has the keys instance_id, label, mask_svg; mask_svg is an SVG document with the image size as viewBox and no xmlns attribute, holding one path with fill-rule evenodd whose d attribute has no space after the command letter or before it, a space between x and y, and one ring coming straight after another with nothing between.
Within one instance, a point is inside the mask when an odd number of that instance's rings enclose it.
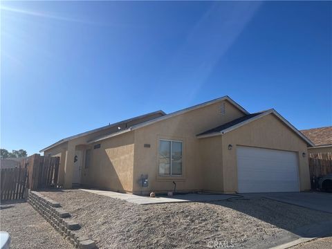
<instances>
[{"instance_id":1,"label":"shaded wooden fence right of the garage, behind the parked car","mask_svg":"<svg viewBox=\"0 0 332 249\"><path fill-rule=\"evenodd\" d=\"M309 154L311 188L317 188L317 178L332 173L332 153Z\"/></svg>"}]
</instances>

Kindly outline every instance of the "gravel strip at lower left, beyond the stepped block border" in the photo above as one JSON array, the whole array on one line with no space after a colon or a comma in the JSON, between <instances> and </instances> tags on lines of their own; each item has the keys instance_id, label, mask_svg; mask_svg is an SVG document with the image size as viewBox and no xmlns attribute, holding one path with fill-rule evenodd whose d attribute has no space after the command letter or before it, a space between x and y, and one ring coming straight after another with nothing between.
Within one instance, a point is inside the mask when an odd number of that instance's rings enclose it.
<instances>
[{"instance_id":1,"label":"gravel strip at lower left, beyond the stepped block border","mask_svg":"<svg viewBox=\"0 0 332 249\"><path fill-rule=\"evenodd\" d=\"M1 230L10 234L10 248L73 248L28 203L1 205Z\"/></svg>"}]
</instances>

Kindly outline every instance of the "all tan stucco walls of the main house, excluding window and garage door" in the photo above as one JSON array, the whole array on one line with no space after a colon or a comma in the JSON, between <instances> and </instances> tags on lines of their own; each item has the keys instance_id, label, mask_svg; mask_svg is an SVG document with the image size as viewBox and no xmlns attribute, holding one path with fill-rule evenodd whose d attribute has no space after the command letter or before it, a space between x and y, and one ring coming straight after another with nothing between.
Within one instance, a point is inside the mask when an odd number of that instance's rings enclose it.
<instances>
[{"instance_id":1,"label":"all tan stucco walls of the main house, excluding window and garage door","mask_svg":"<svg viewBox=\"0 0 332 249\"><path fill-rule=\"evenodd\" d=\"M89 168L84 168L85 156L82 160L82 184L113 191L147 194L152 190L173 190L173 181L176 182L178 191L237 192L237 145L281 149L297 152L300 190L310 189L306 142L273 114L222 136L197 139L196 134L244 115L227 100L223 102L226 104L225 115L220 113L221 102L218 102L95 142L100 143L99 149L93 149L95 144L87 145L87 141L107 131L75 138L45 151L44 154L61 156L59 177L64 187L71 187L75 150L85 152L90 148ZM183 141L182 176L158 174L160 139ZM149 147L145 147L145 144ZM228 149L230 144L233 146L232 150ZM302 157L303 152L307 154L306 157ZM141 174L148 174L149 187L139 185Z\"/></svg>"}]
</instances>

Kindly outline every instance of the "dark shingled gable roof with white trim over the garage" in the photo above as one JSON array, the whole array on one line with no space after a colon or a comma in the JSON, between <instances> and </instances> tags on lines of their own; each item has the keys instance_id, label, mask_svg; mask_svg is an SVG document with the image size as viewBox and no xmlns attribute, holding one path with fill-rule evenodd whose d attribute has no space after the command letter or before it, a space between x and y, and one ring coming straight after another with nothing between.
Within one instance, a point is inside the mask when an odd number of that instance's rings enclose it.
<instances>
[{"instance_id":1,"label":"dark shingled gable roof with white trim over the garage","mask_svg":"<svg viewBox=\"0 0 332 249\"><path fill-rule=\"evenodd\" d=\"M295 133L297 133L297 135L299 137L301 137L303 140L306 141L306 143L313 147L314 144L313 142L311 142L311 140L309 140L308 138L306 138L306 136L304 136L301 132L299 132L299 130L297 130L295 127L293 127L293 125L288 122L284 117L282 117L279 113L277 113L277 111L275 111L275 109L270 109L267 111L260 111L258 113L252 113L252 114L248 114L246 116L243 116L241 118L237 118L235 120L232 120L226 124L222 124L219 127L215 127L214 129L210 129L208 131L204 131L203 133L200 133L197 135L197 138L208 138L211 136L219 136L219 135L223 135L224 133L227 133L228 131L232 131L234 129L237 129L245 124L248 124L249 122L252 122L254 120L257 120L259 118L263 118L264 116L268 115L268 114L274 114L275 116L277 116L277 118L279 118L279 120L281 120L282 122L284 122L284 124L286 124L286 126L288 126L289 128L291 128Z\"/></svg>"}]
</instances>

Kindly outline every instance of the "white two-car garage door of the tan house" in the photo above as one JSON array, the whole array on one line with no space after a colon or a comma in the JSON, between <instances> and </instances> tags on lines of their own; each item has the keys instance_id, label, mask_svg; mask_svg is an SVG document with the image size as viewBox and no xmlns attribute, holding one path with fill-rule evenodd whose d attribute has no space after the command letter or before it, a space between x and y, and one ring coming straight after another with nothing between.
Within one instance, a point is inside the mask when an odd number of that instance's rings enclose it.
<instances>
[{"instance_id":1,"label":"white two-car garage door of the tan house","mask_svg":"<svg viewBox=\"0 0 332 249\"><path fill-rule=\"evenodd\" d=\"M239 193L298 192L297 154L239 146L237 176Z\"/></svg>"}]
</instances>

